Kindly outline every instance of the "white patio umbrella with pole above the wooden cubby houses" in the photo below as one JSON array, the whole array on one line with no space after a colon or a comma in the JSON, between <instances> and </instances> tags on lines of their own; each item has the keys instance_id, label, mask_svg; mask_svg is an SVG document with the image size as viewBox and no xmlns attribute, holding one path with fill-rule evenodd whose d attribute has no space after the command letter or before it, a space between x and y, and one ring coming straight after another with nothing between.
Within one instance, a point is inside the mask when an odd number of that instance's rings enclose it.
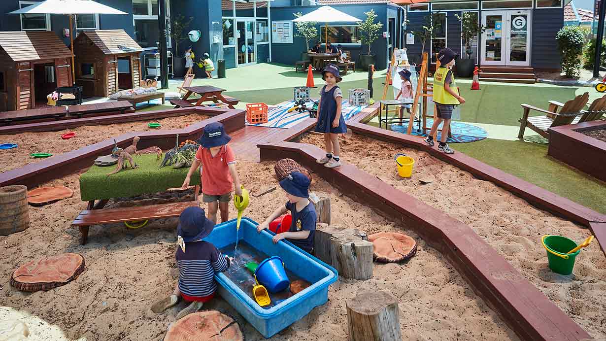
<instances>
[{"instance_id":1,"label":"white patio umbrella with pole above the wooden cubby houses","mask_svg":"<svg viewBox=\"0 0 606 341\"><path fill-rule=\"evenodd\" d=\"M72 30L72 18L79 14L121 14L127 15L116 8L99 4L92 0L45 0L39 4L27 6L8 14L62 14L70 17L70 40L72 42L72 79L76 81L76 71L74 70L74 36Z\"/></svg>"}]
</instances>

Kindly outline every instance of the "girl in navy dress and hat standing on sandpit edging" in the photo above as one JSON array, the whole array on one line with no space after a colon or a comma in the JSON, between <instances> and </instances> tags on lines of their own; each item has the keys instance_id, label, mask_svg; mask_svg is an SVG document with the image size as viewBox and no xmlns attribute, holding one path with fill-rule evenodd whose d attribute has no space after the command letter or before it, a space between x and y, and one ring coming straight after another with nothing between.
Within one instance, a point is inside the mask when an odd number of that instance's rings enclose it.
<instances>
[{"instance_id":1,"label":"girl in navy dress and hat standing on sandpit edging","mask_svg":"<svg viewBox=\"0 0 606 341\"><path fill-rule=\"evenodd\" d=\"M339 159L339 134L347 132L345 120L341 114L341 102L343 93L336 84L341 82L339 68L334 64L328 64L322 71L322 79L326 85L320 90L320 101L318 102L318 121L316 129L318 133L324 133L326 145L326 156L316 160L324 167L335 168L341 165Z\"/></svg>"}]
</instances>

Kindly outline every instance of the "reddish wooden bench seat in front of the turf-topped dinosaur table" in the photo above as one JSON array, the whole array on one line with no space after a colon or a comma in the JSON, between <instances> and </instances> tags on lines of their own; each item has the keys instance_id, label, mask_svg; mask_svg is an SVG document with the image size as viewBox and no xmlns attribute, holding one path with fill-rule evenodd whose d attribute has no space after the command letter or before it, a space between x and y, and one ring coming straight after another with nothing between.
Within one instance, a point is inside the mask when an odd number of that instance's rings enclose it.
<instances>
[{"instance_id":1,"label":"reddish wooden bench seat in front of the turf-topped dinosaur table","mask_svg":"<svg viewBox=\"0 0 606 341\"><path fill-rule=\"evenodd\" d=\"M104 223L119 223L132 220L159 219L168 217L178 217L185 208L197 207L198 200L175 202L172 204L104 208L101 210L84 210L72 226L77 226L82 235L81 244L84 245L88 239L88 227L90 225L99 225ZM89 205L89 208L90 207Z\"/></svg>"}]
</instances>

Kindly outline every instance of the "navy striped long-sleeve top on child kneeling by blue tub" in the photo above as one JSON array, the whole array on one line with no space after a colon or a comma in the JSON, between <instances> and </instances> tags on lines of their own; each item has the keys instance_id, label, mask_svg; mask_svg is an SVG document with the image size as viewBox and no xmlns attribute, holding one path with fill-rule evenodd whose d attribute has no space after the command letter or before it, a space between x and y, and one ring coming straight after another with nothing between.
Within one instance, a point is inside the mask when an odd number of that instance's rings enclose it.
<instances>
[{"instance_id":1,"label":"navy striped long-sleeve top on child kneeling by blue tub","mask_svg":"<svg viewBox=\"0 0 606 341\"><path fill-rule=\"evenodd\" d=\"M208 242L185 243L185 252L177 248L179 290L188 296L205 297L215 293L213 276L230 267L230 260Z\"/></svg>"}]
</instances>

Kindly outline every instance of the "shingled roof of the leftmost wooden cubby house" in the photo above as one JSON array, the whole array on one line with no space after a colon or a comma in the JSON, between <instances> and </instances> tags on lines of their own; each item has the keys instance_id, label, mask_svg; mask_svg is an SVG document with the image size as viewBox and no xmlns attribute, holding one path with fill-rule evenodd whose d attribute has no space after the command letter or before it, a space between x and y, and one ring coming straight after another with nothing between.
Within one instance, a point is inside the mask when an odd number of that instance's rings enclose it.
<instances>
[{"instance_id":1,"label":"shingled roof of the leftmost wooden cubby house","mask_svg":"<svg viewBox=\"0 0 606 341\"><path fill-rule=\"evenodd\" d=\"M0 47L15 62L72 58L72 51L53 31L0 32Z\"/></svg>"}]
</instances>

